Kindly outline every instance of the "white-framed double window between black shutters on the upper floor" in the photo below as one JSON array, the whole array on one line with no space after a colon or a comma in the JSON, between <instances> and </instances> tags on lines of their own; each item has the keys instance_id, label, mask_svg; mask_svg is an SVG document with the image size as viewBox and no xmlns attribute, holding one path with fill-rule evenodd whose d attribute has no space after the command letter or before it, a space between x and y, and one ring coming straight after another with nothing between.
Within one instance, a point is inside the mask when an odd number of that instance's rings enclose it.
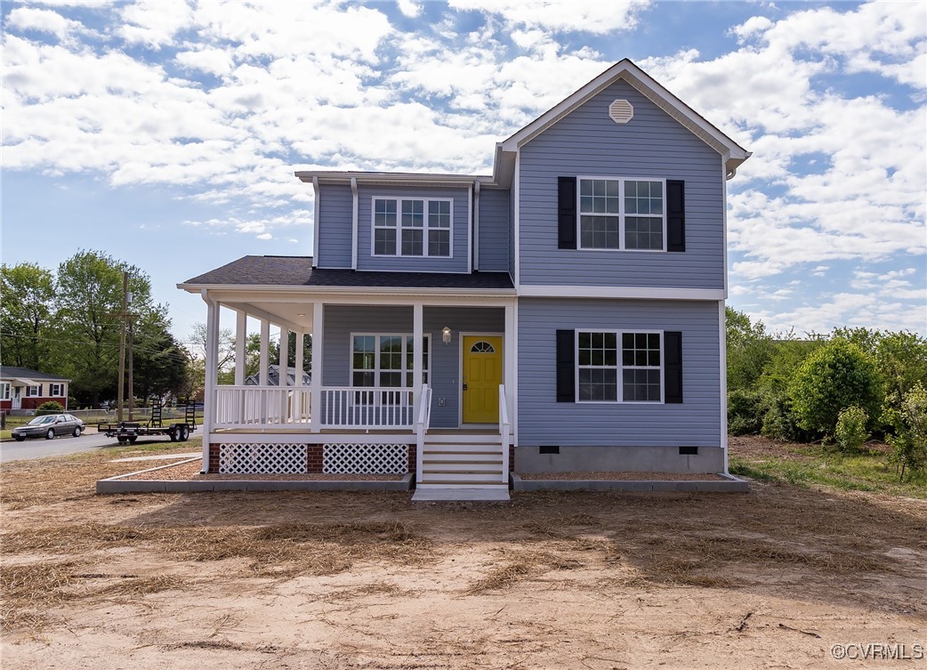
<instances>
[{"instance_id":1,"label":"white-framed double window between black shutters on the upper floor","mask_svg":"<svg viewBox=\"0 0 927 670\"><path fill-rule=\"evenodd\" d=\"M578 178L578 247L667 250L664 179Z\"/></svg>"}]
</instances>

